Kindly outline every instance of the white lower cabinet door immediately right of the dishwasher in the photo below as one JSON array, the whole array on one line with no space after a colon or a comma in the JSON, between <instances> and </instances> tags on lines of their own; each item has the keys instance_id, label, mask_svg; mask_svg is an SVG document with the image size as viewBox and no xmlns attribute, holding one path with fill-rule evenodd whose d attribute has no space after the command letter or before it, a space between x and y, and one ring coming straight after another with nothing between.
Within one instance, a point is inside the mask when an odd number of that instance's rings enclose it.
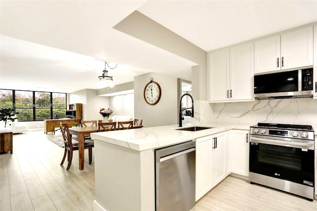
<instances>
[{"instance_id":1,"label":"white lower cabinet door immediately right of the dishwasher","mask_svg":"<svg viewBox=\"0 0 317 211\"><path fill-rule=\"evenodd\" d=\"M211 148L211 136L196 139L196 201L212 188Z\"/></svg>"}]
</instances>

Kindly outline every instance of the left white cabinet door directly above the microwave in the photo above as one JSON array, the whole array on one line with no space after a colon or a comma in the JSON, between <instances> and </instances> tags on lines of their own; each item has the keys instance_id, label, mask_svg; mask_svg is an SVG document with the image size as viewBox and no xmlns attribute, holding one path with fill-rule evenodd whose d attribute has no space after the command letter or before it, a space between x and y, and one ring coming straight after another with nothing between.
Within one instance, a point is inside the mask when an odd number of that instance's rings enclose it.
<instances>
[{"instance_id":1,"label":"left white cabinet door directly above the microwave","mask_svg":"<svg viewBox=\"0 0 317 211\"><path fill-rule=\"evenodd\" d=\"M254 73L280 70L280 36L254 42Z\"/></svg>"}]
</instances>

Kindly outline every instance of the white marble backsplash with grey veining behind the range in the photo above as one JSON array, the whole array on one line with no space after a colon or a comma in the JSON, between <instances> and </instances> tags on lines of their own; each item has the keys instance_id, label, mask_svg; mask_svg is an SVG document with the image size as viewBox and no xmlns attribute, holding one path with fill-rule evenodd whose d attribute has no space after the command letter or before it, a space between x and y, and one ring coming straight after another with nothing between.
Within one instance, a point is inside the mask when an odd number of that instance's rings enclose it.
<instances>
[{"instance_id":1,"label":"white marble backsplash with grey veining behind the range","mask_svg":"<svg viewBox=\"0 0 317 211\"><path fill-rule=\"evenodd\" d=\"M256 100L254 102L212 103L195 101L192 123L258 122L317 125L317 100L312 98Z\"/></svg>"}]
</instances>

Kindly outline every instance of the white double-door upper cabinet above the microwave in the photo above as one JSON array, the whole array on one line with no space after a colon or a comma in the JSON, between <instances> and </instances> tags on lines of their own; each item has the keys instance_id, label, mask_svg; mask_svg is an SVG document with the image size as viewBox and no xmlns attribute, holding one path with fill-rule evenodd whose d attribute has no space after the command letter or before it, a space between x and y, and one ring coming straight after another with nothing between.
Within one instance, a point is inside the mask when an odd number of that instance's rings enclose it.
<instances>
[{"instance_id":1,"label":"white double-door upper cabinet above the microwave","mask_svg":"<svg viewBox=\"0 0 317 211\"><path fill-rule=\"evenodd\" d=\"M254 43L255 73L313 65L313 26Z\"/></svg>"}]
</instances>

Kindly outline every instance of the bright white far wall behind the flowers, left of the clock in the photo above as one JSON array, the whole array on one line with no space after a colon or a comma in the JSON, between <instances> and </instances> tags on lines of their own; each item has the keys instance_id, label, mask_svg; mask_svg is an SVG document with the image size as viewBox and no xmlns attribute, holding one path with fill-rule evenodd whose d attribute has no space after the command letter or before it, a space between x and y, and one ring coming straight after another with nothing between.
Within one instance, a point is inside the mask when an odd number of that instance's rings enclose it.
<instances>
[{"instance_id":1,"label":"bright white far wall behind the flowers, left of the clock","mask_svg":"<svg viewBox=\"0 0 317 211\"><path fill-rule=\"evenodd\" d=\"M109 97L109 108L113 110L111 115L134 116L134 94Z\"/></svg>"}]
</instances>

